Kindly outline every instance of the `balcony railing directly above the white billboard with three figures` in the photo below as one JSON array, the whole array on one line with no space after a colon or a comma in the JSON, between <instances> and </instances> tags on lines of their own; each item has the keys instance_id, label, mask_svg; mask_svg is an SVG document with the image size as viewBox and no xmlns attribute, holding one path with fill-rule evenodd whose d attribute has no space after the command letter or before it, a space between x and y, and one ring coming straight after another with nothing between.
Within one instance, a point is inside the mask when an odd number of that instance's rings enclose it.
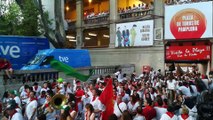
<instances>
[{"instance_id":1,"label":"balcony railing directly above the white billboard with three figures","mask_svg":"<svg viewBox=\"0 0 213 120\"><path fill-rule=\"evenodd\" d=\"M153 14L153 9L144 9L144 10L130 10L127 12L119 13L120 19L126 18L140 18L146 15Z\"/></svg>"}]
</instances>

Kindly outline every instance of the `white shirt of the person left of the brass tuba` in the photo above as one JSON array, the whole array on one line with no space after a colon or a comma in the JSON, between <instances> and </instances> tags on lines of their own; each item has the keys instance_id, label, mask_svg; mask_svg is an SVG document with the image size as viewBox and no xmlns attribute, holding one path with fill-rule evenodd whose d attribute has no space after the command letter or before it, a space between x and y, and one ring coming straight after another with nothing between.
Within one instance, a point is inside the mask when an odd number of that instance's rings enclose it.
<instances>
[{"instance_id":1,"label":"white shirt of the person left of the brass tuba","mask_svg":"<svg viewBox=\"0 0 213 120\"><path fill-rule=\"evenodd\" d=\"M25 113L27 115L27 118L30 119L33 115L33 110L36 109L38 106L38 103L36 100L33 100L31 102L29 102L26 106L26 110L25 110ZM36 110L37 111L37 110ZM37 114L35 113L34 116L36 116Z\"/></svg>"}]
</instances>

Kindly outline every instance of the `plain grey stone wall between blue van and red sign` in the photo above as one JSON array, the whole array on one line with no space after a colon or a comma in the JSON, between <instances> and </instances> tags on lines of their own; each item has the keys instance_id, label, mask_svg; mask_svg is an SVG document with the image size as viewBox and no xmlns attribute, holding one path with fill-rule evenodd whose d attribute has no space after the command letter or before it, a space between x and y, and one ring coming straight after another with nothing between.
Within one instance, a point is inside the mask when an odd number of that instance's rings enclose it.
<instances>
[{"instance_id":1,"label":"plain grey stone wall between blue van and red sign","mask_svg":"<svg viewBox=\"0 0 213 120\"><path fill-rule=\"evenodd\" d=\"M93 66L135 64L136 73L142 66L150 65L155 70L164 70L164 47L106 48L90 50Z\"/></svg>"}]
</instances>

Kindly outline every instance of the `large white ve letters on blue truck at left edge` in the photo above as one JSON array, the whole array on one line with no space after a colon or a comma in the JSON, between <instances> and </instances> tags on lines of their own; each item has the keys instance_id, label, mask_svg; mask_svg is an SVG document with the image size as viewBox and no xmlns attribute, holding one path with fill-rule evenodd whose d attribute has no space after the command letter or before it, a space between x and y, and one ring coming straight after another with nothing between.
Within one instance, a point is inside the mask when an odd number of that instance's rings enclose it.
<instances>
[{"instance_id":1,"label":"large white ve letters on blue truck at left edge","mask_svg":"<svg viewBox=\"0 0 213 120\"><path fill-rule=\"evenodd\" d=\"M11 56L12 58L19 58L20 57L20 48L16 45L13 46L3 46L0 45L0 55L4 56Z\"/></svg>"}]
</instances>

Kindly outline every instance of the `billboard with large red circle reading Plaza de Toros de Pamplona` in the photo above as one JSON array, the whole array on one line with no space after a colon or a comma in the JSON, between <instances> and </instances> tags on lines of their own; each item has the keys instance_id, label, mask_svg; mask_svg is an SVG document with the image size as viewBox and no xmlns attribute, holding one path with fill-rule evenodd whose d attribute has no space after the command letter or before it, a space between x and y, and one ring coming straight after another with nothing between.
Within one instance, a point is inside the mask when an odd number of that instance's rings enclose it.
<instances>
[{"instance_id":1,"label":"billboard with large red circle reading Plaza de Toros de Pamplona","mask_svg":"<svg viewBox=\"0 0 213 120\"><path fill-rule=\"evenodd\" d=\"M213 37L212 3L165 6L165 39Z\"/></svg>"}]
</instances>

